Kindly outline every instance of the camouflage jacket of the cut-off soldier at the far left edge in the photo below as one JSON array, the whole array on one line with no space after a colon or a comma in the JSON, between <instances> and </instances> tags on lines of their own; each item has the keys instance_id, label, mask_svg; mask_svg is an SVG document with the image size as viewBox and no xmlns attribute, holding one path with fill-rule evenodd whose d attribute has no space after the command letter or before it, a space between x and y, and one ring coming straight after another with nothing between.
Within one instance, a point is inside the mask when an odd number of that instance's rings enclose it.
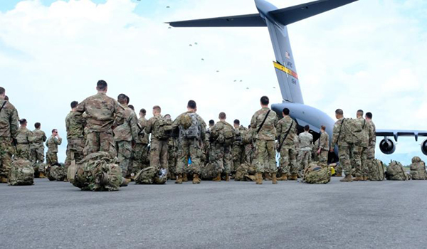
<instances>
[{"instance_id":1,"label":"camouflage jacket of the cut-off soldier at the far left edge","mask_svg":"<svg viewBox=\"0 0 427 249\"><path fill-rule=\"evenodd\" d=\"M18 111L9 101L0 100L0 107L2 105L4 107L0 112L0 137L15 138L19 128Z\"/></svg>"}]
</instances>

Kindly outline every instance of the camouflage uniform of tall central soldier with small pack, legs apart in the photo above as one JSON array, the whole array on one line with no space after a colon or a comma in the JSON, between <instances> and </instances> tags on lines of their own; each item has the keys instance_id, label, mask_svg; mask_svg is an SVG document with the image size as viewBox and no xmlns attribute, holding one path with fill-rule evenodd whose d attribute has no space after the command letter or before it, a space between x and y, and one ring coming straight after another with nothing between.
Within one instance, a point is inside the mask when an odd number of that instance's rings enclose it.
<instances>
[{"instance_id":1,"label":"camouflage uniform of tall central soldier with small pack, legs apart","mask_svg":"<svg viewBox=\"0 0 427 249\"><path fill-rule=\"evenodd\" d=\"M199 139L187 139L184 137L184 133L180 124L181 117L194 113L199 121L200 125L200 138ZM178 161L176 164L176 174L183 174L184 169L189 163L191 157L191 171L194 174L200 175L201 169L201 150L202 142L206 139L206 123L204 120L194 111L184 112L174 120L172 124L173 128L179 127L179 144L178 144Z\"/></svg>"}]
</instances>

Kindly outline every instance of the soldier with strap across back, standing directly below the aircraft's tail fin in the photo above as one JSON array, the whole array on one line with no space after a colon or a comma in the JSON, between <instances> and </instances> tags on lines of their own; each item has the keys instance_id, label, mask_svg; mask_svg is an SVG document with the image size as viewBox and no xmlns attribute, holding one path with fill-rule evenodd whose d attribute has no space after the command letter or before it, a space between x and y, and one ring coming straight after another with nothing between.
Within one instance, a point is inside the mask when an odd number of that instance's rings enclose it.
<instances>
[{"instance_id":1,"label":"soldier with strap across back, standing directly below the aircraft's tail fin","mask_svg":"<svg viewBox=\"0 0 427 249\"><path fill-rule=\"evenodd\" d=\"M290 110L283 109L283 119L277 124L278 141L280 153L280 169L282 175L278 178L280 181L296 181L298 179L297 152L295 149L295 137L297 134L297 122L289 116Z\"/></svg>"}]
</instances>

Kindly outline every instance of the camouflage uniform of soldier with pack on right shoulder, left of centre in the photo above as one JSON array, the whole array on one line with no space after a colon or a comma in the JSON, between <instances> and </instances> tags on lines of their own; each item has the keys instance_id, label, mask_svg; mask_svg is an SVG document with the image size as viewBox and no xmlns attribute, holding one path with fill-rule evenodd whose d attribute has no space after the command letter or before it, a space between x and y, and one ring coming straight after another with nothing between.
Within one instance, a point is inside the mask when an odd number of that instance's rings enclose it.
<instances>
[{"instance_id":1,"label":"camouflage uniform of soldier with pack on right shoulder, left of centre","mask_svg":"<svg viewBox=\"0 0 427 249\"><path fill-rule=\"evenodd\" d=\"M154 166L155 169L168 170L168 139L159 137L159 120L162 118L162 115L150 118L147 122L147 127L145 127L147 134L152 134L149 150L149 166Z\"/></svg>"}]
</instances>

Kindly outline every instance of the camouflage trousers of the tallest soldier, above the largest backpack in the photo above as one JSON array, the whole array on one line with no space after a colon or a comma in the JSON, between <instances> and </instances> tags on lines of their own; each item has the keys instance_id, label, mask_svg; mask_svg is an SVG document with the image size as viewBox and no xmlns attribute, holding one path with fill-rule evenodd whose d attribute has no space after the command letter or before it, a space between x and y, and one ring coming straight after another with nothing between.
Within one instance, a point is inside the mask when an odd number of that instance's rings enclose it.
<instances>
[{"instance_id":1,"label":"camouflage trousers of the tallest soldier, above the largest backpack","mask_svg":"<svg viewBox=\"0 0 427 249\"><path fill-rule=\"evenodd\" d=\"M112 130L107 130L105 132L89 132L86 135L83 154L87 156L95 152L108 152L111 157L116 157L117 152Z\"/></svg>"}]
</instances>

